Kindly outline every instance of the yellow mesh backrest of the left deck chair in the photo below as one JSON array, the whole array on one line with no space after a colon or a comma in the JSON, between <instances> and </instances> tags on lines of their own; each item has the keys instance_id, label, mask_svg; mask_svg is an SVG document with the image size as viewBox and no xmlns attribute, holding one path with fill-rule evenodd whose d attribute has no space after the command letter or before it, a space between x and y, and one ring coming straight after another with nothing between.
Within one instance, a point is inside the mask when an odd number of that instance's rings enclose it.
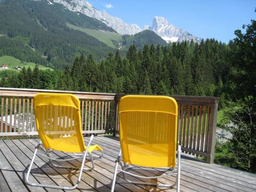
<instances>
[{"instance_id":1,"label":"yellow mesh backrest of the left deck chair","mask_svg":"<svg viewBox=\"0 0 256 192\"><path fill-rule=\"evenodd\" d=\"M38 93L34 98L36 127L45 149L85 150L80 101L73 94Z\"/></svg>"}]
</instances>

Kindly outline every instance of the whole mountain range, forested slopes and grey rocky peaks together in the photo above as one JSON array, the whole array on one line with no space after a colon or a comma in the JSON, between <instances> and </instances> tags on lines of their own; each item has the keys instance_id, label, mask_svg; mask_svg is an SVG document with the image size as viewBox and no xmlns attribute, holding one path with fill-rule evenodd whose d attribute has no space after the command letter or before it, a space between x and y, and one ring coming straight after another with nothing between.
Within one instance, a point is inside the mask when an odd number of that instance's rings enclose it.
<instances>
[{"instance_id":1,"label":"whole mountain range, forested slopes and grey rocky peaks together","mask_svg":"<svg viewBox=\"0 0 256 192\"><path fill-rule=\"evenodd\" d=\"M71 65L81 53L100 61L117 49L125 55L132 44L139 50L146 43L200 41L165 18L142 30L81 0L0 0L0 15L0 57L51 68Z\"/></svg>"}]
</instances>

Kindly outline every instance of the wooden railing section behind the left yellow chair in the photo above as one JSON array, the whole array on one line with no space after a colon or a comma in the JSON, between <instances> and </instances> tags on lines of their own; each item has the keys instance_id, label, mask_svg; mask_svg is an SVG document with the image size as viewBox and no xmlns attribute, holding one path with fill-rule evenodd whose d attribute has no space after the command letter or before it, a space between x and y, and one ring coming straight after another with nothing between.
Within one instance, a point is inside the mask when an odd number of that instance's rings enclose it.
<instances>
[{"instance_id":1,"label":"wooden railing section behind the left yellow chair","mask_svg":"<svg viewBox=\"0 0 256 192\"><path fill-rule=\"evenodd\" d=\"M38 135L33 103L35 94L43 92L71 93L79 98L84 134L113 134L115 94L0 88L0 136Z\"/></svg>"}]
</instances>

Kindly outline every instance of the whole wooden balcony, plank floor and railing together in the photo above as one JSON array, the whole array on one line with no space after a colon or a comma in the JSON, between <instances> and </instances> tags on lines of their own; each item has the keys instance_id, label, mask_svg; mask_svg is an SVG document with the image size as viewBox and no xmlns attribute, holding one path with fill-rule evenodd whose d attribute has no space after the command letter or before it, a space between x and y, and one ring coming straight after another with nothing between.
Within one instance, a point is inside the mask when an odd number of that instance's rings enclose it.
<instances>
[{"instance_id":1,"label":"whole wooden balcony, plank floor and railing together","mask_svg":"<svg viewBox=\"0 0 256 192\"><path fill-rule=\"evenodd\" d=\"M63 91L0 88L0 139L5 139L0 140L0 191L56 191L31 187L24 182L28 164L39 141L31 139L31 136L37 135L33 102L34 95L39 92ZM81 100L85 141L89 139L87 136L90 134L98 135L94 137L93 143L104 150L103 158L95 161L95 170L84 172L82 182L74 191L110 191L115 159L119 151L116 108L122 95L68 93L77 95ZM218 98L173 97L179 106L177 136L183 151L181 191L256 191L255 174L213 164ZM20 139L18 136L25 138ZM7 137L10 138L6 139ZM195 157L204 157L207 163ZM43 172L46 175L42 174ZM31 173L39 182L57 184L68 184L78 176L76 172L67 169L51 169L44 158L36 159ZM118 175L119 184L116 185L116 191L175 191L124 184L122 181L123 176ZM168 181L173 182L174 177ZM165 180L159 179L158 182Z\"/></svg>"}]
</instances>

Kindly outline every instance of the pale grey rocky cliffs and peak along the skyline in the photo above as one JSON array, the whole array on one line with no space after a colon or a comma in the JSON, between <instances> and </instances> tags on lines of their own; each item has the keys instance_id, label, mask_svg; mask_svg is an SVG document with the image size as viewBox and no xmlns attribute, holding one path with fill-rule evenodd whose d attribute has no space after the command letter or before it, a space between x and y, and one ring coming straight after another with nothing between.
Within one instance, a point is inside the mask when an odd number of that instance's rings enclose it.
<instances>
[{"instance_id":1,"label":"pale grey rocky cliffs and peak along the skyline","mask_svg":"<svg viewBox=\"0 0 256 192\"><path fill-rule=\"evenodd\" d=\"M89 17L100 20L108 27L113 28L121 35L134 35L142 31L136 24L127 24L117 17L109 15L105 10L99 11L94 8L89 2L81 0L48 0L49 4L60 3L67 7L68 10L81 12ZM145 26L145 29L153 30L157 35L162 37L167 43L193 41L200 42L201 38L189 34L187 31L174 27L169 24L167 19L163 17L155 17L153 25Z\"/></svg>"}]
</instances>

